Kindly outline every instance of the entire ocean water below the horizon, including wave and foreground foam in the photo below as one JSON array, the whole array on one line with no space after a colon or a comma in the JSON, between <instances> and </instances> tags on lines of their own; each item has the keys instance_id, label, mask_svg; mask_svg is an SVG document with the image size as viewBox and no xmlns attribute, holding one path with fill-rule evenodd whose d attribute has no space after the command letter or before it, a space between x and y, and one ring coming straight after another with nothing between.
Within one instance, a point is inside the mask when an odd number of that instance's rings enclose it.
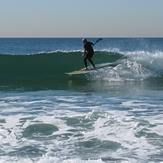
<instances>
[{"instance_id":1,"label":"entire ocean water below the horizon, including wave and foreground foam","mask_svg":"<svg viewBox=\"0 0 163 163\"><path fill-rule=\"evenodd\" d=\"M0 163L163 163L163 39L94 49L68 76L81 38L0 38Z\"/></svg>"}]
</instances>

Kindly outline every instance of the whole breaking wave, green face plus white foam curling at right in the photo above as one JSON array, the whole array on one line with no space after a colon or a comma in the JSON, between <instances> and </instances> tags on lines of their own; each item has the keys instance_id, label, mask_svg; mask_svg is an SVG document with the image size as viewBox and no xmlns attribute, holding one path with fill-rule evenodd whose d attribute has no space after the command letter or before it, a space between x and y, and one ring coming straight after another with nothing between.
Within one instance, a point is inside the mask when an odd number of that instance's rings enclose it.
<instances>
[{"instance_id":1,"label":"whole breaking wave, green face plus white foam curling at right","mask_svg":"<svg viewBox=\"0 0 163 163\"><path fill-rule=\"evenodd\" d=\"M52 52L34 55L0 55L1 85L22 84L49 85L61 88L67 84L70 72L83 68L82 52ZM80 75L87 80L128 81L162 78L163 53L144 51L126 54L96 51L95 63L110 63L89 75ZM98 64L96 64L98 66ZM77 77L77 76L76 76ZM79 76L78 76L79 77Z\"/></svg>"}]
</instances>

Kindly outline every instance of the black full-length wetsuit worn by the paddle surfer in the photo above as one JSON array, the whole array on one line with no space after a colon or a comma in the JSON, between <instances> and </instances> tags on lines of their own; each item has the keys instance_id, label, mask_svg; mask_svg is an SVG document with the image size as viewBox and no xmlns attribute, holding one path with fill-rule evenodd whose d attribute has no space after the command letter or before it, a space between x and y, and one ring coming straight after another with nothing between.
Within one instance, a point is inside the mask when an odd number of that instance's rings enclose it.
<instances>
[{"instance_id":1,"label":"black full-length wetsuit worn by the paddle surfer","mask_svg":"<svg viewBox=\"0 0 163 163\"><path fill-rule=\"evenodd\" d=\"M94 44L92 42L84 43L84 49L86 50L86 54L85 54L84 59L83 59L85 67L87 67L87 59L92 64L92 66L95 67L93 61L91 60L91 58L93 57L93 54L94 54L94 50L92 48L93 45Z\"/></svg>"}]
</instances>

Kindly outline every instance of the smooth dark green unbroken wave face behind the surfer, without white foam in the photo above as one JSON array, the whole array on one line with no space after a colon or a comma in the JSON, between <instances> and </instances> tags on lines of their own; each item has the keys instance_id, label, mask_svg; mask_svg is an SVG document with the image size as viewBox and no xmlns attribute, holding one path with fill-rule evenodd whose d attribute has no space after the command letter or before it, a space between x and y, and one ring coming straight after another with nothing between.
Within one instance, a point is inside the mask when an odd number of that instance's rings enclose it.
<instances>
[{"instance_id":1,"label":"smooth dark green unbroken wave face behind the surfer, without white foam","mask_svg":"<svg viewBox=\"0 0 163 163\"><path fill-rule=\"evenodd\" d=\"M83 67L82 52L52 52L34 55L0 55L1 79L38 79L63 77L65 72ZM121 54L97 52L95 60L116 61Z\"/></svg>"}]
</instances>

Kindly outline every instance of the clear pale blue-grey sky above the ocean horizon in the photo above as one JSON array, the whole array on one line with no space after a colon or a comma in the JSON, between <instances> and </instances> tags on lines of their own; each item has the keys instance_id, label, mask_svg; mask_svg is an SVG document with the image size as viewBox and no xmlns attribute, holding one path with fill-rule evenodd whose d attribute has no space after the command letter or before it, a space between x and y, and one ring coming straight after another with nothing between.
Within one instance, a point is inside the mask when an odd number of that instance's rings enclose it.
<instances>
[{"instance_id":1,"label":"clear pale blue-grey sky above the ocean horizon","mask_svg":"<svg viewBox=\"0 0 163 163\"><path fill-rule=\"evenodd\" d=\"M163 37L163 0L0 0L2 37Z\"/></svg>"}]
</instances>

